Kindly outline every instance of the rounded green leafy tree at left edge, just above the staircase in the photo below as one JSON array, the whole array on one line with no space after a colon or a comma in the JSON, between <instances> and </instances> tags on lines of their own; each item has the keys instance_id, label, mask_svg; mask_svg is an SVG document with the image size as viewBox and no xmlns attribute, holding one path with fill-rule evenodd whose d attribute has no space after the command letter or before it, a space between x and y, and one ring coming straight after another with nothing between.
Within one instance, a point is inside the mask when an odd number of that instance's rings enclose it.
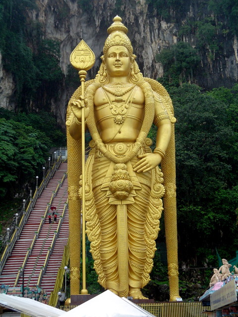
<instances>
[{"instance_id":1,"label":"rounded green leafy tree at left edge, just above the staircase","mask_svg":"<svg viewBox=\"0 0 238 317\"><path fill-rule=\"evenodd\" d=\"M30 180L45 162L50 139L39 130L0 118L0 197Z\"/></svg>"}]
</instances>

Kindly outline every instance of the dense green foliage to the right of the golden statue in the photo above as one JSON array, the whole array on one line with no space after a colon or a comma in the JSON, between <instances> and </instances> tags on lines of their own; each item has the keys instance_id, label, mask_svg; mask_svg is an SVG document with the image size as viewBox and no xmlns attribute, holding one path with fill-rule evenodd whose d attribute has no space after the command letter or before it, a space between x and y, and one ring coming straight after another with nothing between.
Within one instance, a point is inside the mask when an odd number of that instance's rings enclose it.
<instances>
[{"instance_id":1,"label":"dense green foliage to the right of the golden statue","mask_svg":"<svg viewBox=\"0 0 238 317\"><path fill-rule=\"evenodd\" d=\"M228 258L237 250L237 92L238 85L210 93L189 84L170 89L178 120L179 252L186 263L216 265L215 247Z\"/></svg>"}]
</instances>

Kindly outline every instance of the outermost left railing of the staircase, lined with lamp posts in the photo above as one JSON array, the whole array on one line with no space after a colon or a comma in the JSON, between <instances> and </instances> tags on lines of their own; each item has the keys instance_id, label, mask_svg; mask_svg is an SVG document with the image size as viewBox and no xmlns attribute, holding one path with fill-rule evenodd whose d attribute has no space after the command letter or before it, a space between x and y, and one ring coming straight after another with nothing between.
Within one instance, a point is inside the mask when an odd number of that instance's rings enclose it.
<instances>
[{"instance_id":1,"label":"outermost left railing of the staircase, lined with lamp posts","mask_svg":"<svg viewBox=\"0 0 238 317\"><path fill-rule=\"evenodd\" d=\"M1 260L0 260L0 274L1 274L2 269L3 269L3 267L4 267L5 263L6 263L6 260L8 259L8 257L10 256L10 254L12 252L12 249L13 249L13 246L14 246L16 240L18 240L18 238L19 238L19 236L21 234L21 231L23 229L24 224L28 220L30 212L35 207L36 200L40 196L39 193L41 194L43 189L47 186L47 184L49 183L50 179L55 174L55 171L59 168L61 161L62 161L62 158L60 156L57 159L57 161L54 163L53 167L51 169L49 169L47 176L42 180L40 186L36 187L36 190L35 190L35 193L33 195L33 198L30 198L30 202L29 202L29 204L28 204L28 206L26 208L26 211L23 211L23 216L21 217L21 219L19 221L19 225L15 228L14 233L10 237L10 241L9 240L6 241L6 247L5 247L4 251L3 251L3 254L2 254ZM48 212L48 210L47 210L47 212Z\"/></svg>"}]
</instances>

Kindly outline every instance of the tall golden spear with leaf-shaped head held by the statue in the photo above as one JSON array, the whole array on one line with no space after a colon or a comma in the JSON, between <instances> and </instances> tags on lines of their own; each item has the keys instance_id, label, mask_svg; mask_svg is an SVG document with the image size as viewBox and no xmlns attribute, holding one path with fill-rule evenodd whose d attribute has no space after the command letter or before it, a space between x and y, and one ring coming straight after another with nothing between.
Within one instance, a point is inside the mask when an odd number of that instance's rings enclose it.
<instances>
[{"instance_id":1,"label":"tall golden spear with leaf-shaped head held by the statue","mask_svg":"<svg viewBox=\"0 0 238 317\"><path fill-rule=\"evenodd\" d=\"M87 70L93 67L95 55L82 40L70 55L70 62L79 72L84 100L84 82ZM82 289L81 294L88 294L86 289L86 246L85 246L85 108L82 108Z\"/></svg>"}]
</instances>

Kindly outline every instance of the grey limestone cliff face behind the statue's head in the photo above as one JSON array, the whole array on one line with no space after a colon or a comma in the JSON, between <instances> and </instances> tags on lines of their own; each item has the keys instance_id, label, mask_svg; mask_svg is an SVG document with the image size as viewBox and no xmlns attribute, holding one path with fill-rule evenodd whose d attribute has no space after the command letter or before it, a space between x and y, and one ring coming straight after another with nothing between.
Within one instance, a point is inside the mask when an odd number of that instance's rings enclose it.
<instances>
[{"instance_id":1,"label":"grey limestone cliff face behind the statue's head","mask_svg":"<svg viewBox=\"0 0 238 317\"><path fill-rule=\"evenodd\" d=\"M180 26L186 24L188 18L196 19L199 2L200 0L187 1L180 16L176 11L171 12L171 16L175 17L170 19L171 22L158 15L146 0L36 0L38 8L27 11L27 15L28 19L42 24L45 38L60 41L60 67L65 75L70 53L83 38L96 55L95 66L88 74L88 77L92 78L100 65L107 28L118 14L129 30L128 36L134 53L138 56L137 62L142 73L146 77L157 79L163 76L163 67L156 62L156 54L177 43ZM183 37L182 40L193 46L196 41L193 34ZM199 70L194 76L194 83L205 89L232 86L238 79L237 37L230 32L219 41L223 43L223 51L215 59L211 59L209 50L204 50L204 53L201 53ZM60 87L60 100L52 101L52 110L57 114L62 126L67 101L73 92L70 88L65 90L65 87ZM0 67L0 106L16 106L10 102L13 92L14 82L11 75L4 73Z\"/></svg>"}]
</instances>

